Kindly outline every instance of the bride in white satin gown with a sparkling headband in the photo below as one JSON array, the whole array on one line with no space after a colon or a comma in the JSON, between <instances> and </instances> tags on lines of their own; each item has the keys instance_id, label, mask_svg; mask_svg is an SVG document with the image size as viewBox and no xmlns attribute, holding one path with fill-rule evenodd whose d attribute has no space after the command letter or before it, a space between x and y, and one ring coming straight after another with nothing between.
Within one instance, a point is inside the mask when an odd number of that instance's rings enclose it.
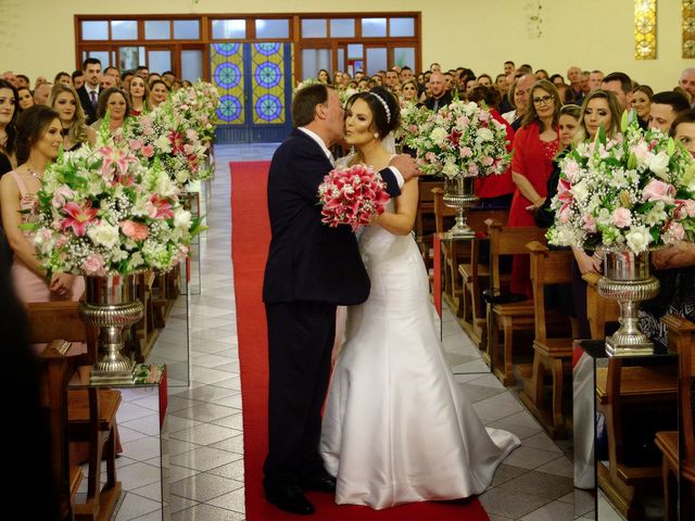
<instances>
[{"instance_id":1,"label":"bride in white satin gown with a sparkling headband","mask_svg":"<svg viewBox=\"0 0 695 521\"><path fill-rule=\"evenodd\" d=\"M388 90L354 94L345 141L356 153L344 164L388 166L393 151L384 137L397 125L399 104ZM348 309L320 441L338 504L381 509L481 494L520 444L509 432L485 429L444 357L410 233L417 191L417 179L407 181L359 237L371 291Z\"/></svg>"}]
</instances>

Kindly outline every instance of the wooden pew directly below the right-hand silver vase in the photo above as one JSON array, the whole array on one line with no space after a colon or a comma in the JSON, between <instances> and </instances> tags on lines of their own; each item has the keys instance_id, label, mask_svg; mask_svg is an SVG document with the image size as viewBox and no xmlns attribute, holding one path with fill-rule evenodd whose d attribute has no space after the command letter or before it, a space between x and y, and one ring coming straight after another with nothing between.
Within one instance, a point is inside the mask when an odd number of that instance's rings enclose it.
<instances>
[{"instance_id":1,"label":"wooden pew directly below the right-hand silver vase","mask_svg":"<svg viewBox=\"0 0 695 521\"><path fill-rule=\"evenodd\" d=\"M598 485L628 520L642 519L640 495L659 486L661 466L644 461L644 450L633 448L629 454L628 442L637 432L626 432L627 421L641 416L644 427L664 421L674 427L677 421L678 367L643 358L642 365L628 366L626 359L612 357L608 367L596 369L596 406L604 415L608 441L608 468L597 463Z\"/></svg>"}]
</instances>

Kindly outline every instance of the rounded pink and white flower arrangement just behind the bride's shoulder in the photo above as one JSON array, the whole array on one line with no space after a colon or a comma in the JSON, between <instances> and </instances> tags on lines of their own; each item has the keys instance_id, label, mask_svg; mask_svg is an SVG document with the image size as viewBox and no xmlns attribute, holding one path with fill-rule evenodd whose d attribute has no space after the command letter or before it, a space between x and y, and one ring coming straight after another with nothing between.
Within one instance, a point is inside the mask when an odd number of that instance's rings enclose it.
<instances>
[{"instance_id":1,"label":"rounded pink and white flower arrangement just behind the bride's shoulder","mask_svg":"<svg viewBox=\"0 0 695 521\"><path fill-rule=\"evenodd\" d=\"M450 179L498 175L511 160L504 125L473 102L454 100L431 113L412 141L422 173Z\"/></svg>"}]
</instances>

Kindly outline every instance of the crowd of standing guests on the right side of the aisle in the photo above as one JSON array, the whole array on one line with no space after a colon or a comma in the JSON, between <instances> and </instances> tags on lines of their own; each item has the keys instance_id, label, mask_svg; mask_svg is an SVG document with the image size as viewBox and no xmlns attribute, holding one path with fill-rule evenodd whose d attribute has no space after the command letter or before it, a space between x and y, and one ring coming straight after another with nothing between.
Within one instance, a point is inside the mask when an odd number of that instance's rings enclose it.
<instances>
[{"instance_id":1,"label":"crowd of standing guests on the right side of the aisle","mask_svg":"<svg viewBox=\"0 0 695 521\"><path fill-rule=\"evenodd\" d=\"M608 138L615 137L626 116L643 129L669 134L695 156L695 67L682 71L680 77L674 74L673 88L660 92L623 72L604 74L570 66L563 76L542 68L533 71L528 64L517 67L511 61L505 62L503 72L496 75L476 75L466 67L443 71L432 63L429 71L418 74L407 66L379 71L374 76L358 71L354 78L321 71L318 80L338 90L384 86L402 103L413 102L432 111L454 99L484 102L493 117L506 125L514 156L505 175L478 181L477 194L482 206L508 208L509 226L551 226L554 216L549 202L557 190L559 160L572 143L593 140L602 126ZM589 338L581 276L601 272L602 252L573 249L573 253L571 301L578 334ZM678 313L695 318L695 245L683 242L653 252L652 257L664 290L643 305L641 321L654 341L665 343L661 316ZM516 298L532 297L526 256L514 259L509 291Z\"/></svg>"}]
</instances>

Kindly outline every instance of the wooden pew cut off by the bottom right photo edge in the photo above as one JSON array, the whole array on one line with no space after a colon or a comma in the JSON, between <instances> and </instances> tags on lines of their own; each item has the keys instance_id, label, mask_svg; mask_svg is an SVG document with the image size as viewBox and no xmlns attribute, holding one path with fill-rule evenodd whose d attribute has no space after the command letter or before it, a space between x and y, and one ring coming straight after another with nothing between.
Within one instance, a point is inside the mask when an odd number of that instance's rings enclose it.
<instances>
[{"instance_id":1,"label":"wooden pew cut off by the bottom right photo edge","mask_svg":"<svg viewBox=\"0 0 695 521\"><path fill-rule=\"evenodd\" d=\"M674 315L661 319L669 329L669 347L679 354L679 431L656 433L655 443L661 450L665 521L678 519L675 488L680 488L681 517L693 519L695 511L695 421L691 403L695 378L695 323ZM681 455L679 458L679 454Z\"/></svg>"}]
</instances>

